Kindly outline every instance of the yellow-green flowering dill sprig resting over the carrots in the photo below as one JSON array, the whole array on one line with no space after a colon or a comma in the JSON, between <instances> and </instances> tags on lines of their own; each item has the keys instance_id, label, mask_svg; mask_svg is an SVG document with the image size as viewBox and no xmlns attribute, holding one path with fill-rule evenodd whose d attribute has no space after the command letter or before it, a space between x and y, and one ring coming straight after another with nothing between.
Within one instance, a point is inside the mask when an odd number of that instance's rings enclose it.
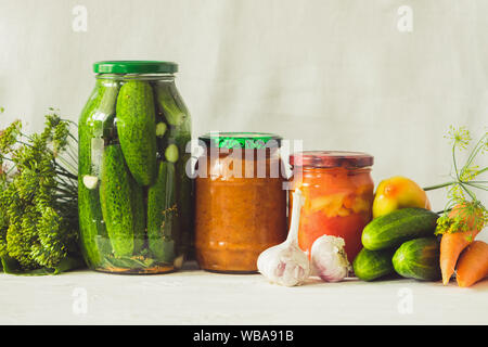
<instances>
[{"instance_id":1,"label":"yellow-green flowering dill sprig resting over the carrots","mask_svg":"<svg viewBox=\"0 0 488 347\"><path fill-rule=\"evenodd\" d=\"M476 191L488 191L488 181L483 178L488 167L479 167L475 159L488 151L488 132L485 132L472 149L466 162L460 166L457 159L459 151L467 150L472 138L465 127L450 127L446 137L452 145L451 181L424 188L425 191L447 188L448 202L437 221L436 234L481 230L488 221L488 213L484 204L477 198ZM449 215L455 208L453 216Z\"/></svg>"}]
</instances>

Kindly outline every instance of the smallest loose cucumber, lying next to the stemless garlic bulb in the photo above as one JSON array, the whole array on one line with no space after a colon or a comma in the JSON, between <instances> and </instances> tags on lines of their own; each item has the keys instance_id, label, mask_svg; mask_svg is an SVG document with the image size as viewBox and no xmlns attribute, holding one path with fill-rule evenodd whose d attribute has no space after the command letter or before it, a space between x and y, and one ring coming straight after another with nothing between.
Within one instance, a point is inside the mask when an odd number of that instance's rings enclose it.
<instances>
[{"instance_id":1,"label":"smallest loose cucumber, lying next to the stemless garlic bulb","mask_svg":"<svg viewBox=\"0 0 488 347\"><path fill-rule=\"evenodd\" d=\"M362 248L352 261L355 274L363 281L373 281L395 273L391 258L395 249L369 250Z\"/></svg>"}]
</instances>

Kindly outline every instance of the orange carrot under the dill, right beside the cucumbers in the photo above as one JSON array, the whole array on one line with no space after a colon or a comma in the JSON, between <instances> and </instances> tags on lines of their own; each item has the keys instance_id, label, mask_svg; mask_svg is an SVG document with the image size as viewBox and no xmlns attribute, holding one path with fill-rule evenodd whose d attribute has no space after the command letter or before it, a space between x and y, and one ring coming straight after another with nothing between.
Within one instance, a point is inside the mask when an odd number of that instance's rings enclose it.
<instances>
[{"instance_id":1,"label":"orange carrot under the dill, right beside the cucumbers","mask_svg":"<svg viewBox=\"0 0 488 347\"><path fill-rule=\"evenodd\" d=\"M460 216L460 208L461 206L454 207L449 213L449 218L455 218ZM452 273L454 273L455 264L461 252L463 252L463 249L473 242L475 236L480 231L476 228L473 228L474 219L474 216L467 217L467 231L458 231L453 233L446 232L445 234L442 234L442 239L440 240L439 262L444 285L449 283Z\"/></svg>"}]
</instances>

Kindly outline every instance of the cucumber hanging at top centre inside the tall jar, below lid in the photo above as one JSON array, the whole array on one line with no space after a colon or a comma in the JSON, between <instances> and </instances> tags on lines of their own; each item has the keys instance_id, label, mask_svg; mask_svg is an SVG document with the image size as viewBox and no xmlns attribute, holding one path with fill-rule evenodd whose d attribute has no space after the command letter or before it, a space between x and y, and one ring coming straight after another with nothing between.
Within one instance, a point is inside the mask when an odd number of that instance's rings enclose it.
<instances>
[{"instance_id":1,"label":"cucumber hanging at top centre inside the tall jar, below lid","mask_svg":"<svg viewBox=\"0 0 488 347\"><path fill-rule=\"evenodd\" d=\"M151 85L130 80L117 98L117 133L127 166L136 181L150 185L156 178L156 120Z\"/></svg>"}]
</instances>

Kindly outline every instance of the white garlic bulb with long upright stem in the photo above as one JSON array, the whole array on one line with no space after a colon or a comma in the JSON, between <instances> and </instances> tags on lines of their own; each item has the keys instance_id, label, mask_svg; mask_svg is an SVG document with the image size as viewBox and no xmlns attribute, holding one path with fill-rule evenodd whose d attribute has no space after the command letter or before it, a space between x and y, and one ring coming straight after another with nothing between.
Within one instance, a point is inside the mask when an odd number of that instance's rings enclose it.
<instances>
[{"instance_id":1,"label":"white garlic bulb with long upright stem","mask_svg":"<svg viewBox=\"0 0 488 347\"><path fill-rule=\"evenodd\" d=\"M292 222L286 241L262 252L257 267L271 283L294 286L304 283L310 275L308 255L298 246L298 226L305 197L297 189L293 193Z\"/></svg>"}]
</instances>

